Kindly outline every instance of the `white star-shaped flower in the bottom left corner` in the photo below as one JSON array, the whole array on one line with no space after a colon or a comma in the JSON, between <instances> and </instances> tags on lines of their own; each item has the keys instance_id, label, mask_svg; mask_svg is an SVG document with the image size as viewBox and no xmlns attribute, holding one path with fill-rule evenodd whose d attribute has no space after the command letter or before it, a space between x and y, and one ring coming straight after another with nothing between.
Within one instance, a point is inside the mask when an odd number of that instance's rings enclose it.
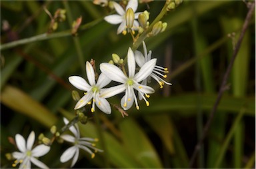
<instances>
[{"instance_id":1,"label":"white star-shaped flower in the bottom left corner","mask_svg":"<svg viewBox=\"0 0 256 169\"><path fill-rule=\"evenodd\" d=\"M45 146L44 144L40 144L38 146L35 146L35 148L32 148L34 142L35 142L35 132L31 132L29 134L29 137L27 138L27 143L25 141L25 138L21 136L21 134L15 135L15 142L17 144L17 148L21 152L13 152L12 155L15 160L13 167L17 166L17 164L21 163L19 165L19 168L31 168L31 162L38 166L39 168L48 168L43 162L37 160L39 156L43 156L49 152L50 147Z\"/></svg>"}]
</instances>

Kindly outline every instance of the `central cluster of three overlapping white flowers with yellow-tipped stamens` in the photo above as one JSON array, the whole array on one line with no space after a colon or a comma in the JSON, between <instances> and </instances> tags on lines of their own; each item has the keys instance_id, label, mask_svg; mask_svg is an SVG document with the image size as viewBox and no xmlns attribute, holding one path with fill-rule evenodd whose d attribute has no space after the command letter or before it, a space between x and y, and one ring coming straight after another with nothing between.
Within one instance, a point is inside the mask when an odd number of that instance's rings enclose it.
<instances>
[{"instance_id":1,"label":"central cluster of three overlapping white flowers with yellow-tipped stamens","mask_svg":"<svg viewBox=\"0 0 256 169\"><path fill-rule=\"evenodd\" d=\"M111 96L115 96L121 92L125 92L123 98L121 98L121 106L123 110L128 110L135 102L135 106L137 110L139 110L139 104L137 100L137 95L135 94L135 90L139 95L139 100L145 100L147 106L149 106L149 94L155 92L155 90L151 86L147 86L147 80L151 77L159 83L160 88L163 88L164 84L171 85L171 83L167 83L163 78L166 78L167 75L163 73L168 73L167 68L160 67L156 65L157 59L151 59L151 51L147 53L147 48L145 43L143 42L143 51L144 56L140 51L135 51L135 53L128 49L127 53L127 68L128 71L124 70L124 65L121 64L121 69L117 65L113 65L111 63L101 63L100 70L101 74L99 75L99 79L97 83L95 83L95 72L93 71L93 67L89 62L86 63L86 71L87 71L87 79L89 84L85 81L85 79L78 76L69 77L69 82L79 88L80 90L85 91L85 96L83 96L75 105L75 109L81 108L86 104L91 104L92 99L92 108L91 112L95 111L95 104L97 107L105 112L106 114L111 113L111 106L109 102L107 102L106 98ZM116 59L118 55L113 55ZM121 60L121 59L120 59ZM115 63L117 63L115 61ZM139 71L136 73L136 63L139 65ZM123 68L123 69L122 69ZM123 71L122 71L123 70ZM127 75L128 74L128 75ZM103 88L108 85L111 81L115 81L117 83L121 83L117 86L111 86L109 88Z\"/></svg>"}]
</instances>

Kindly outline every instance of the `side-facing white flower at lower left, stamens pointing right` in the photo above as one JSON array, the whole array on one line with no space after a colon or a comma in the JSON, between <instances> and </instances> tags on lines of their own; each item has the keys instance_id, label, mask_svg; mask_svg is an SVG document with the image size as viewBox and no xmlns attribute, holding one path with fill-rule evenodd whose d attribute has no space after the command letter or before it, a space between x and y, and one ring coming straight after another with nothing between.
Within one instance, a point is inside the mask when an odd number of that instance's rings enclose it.
<instances>
[{"instance_id":1,"label":"side-facing white flower at lower left, stamens pointing right","mask_svg":"<svg viewBox=\"0 0 256 169\"><path fill-rule=\"evenodd\" d=\"M67 118L63 119L66 125L69 124L69 120L67 120ZM74 145L67 148L67 150L63 152L63 154L61 155L61 162L67 162L68 160L73 158L71 164L71 167L73 167L75 165L75 162L77 162L78 160L79 148L85 150L86 152L89 152L89 154L91 154L91 158L94 158L95 154L89 148L95 150L95 152L103 152L103 150L99 150L98 148L94 147L95 143L91 143L97 142L97 138L80 138L79 127L77 124L75 124L75 126L69 127L69 130L74 134L74 136L71 136L69 134L63 134L61 135L61 138L67 142L73 143Z\"/></svg>"}]
</instances>

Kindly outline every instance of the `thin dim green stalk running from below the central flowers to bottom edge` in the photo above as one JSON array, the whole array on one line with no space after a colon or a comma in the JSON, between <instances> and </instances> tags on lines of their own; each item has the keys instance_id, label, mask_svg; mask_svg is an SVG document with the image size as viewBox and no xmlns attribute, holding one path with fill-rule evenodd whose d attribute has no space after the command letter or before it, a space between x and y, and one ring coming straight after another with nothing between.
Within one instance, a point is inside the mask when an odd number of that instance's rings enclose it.
<instances>
[{"instance_id":1,"label":"thin dim green stalk running from below the central flowers to bottom edge","mask_svg":"<svg viewBox=\"0 0 256 169\"><path fill-rule=\"evenodd\" d=\"M105 139L104 139L103 131L101 128L101 122L99 120L99 114L97 112L94 112L94 113L95 113L96 128L97 128L97 132L99 134L99 140L100 140L101 146L104 150L103 163L104 163L105 168L110 168L109 159L107 158L108 157L107 146L105 144Z\"/></svg>"}]
</instances>

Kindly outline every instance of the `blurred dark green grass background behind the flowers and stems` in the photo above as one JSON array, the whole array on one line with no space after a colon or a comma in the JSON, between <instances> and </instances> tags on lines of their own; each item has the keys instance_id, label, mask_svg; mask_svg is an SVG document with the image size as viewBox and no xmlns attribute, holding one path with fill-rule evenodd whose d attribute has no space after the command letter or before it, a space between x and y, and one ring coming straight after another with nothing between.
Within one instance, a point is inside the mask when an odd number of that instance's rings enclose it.
<instances>
[{"instance_id":1,"label":"blurred dark green grass background behind the flowers and stems","mask_svg":"<svg viewBox=\"0 0 256 169\"><path fill-rule=\"evenodd\" d=\"M152 22L164 4L139 4L137 11L147 9ZM49 35L53 38L1 50L1 168L11 168L5 154L16 150L9 136L27 138L31 130L49 135L53 124L63 124L62 116L74 116L69 76L85 77L85 61L91 59L99 71L112 53L124 58L132 45L129 35L116 35L117 25L103 21L109 9L91 1L1 1L1 46L46 33L51 19L43 6L52 15L67 10L66 21ZM166 31L146 44L157 64L169 68L173 85L158 89L155 84L150 106L139 102L140 110L131 108L126 118L115 108L111 115L95 112L103 132L97 146L104 144L105 152L91 159L81 151L75 168L189 168L246 14L243 1L183 1L167 13ZM67 30L80 16L81 29L71 36ZM9 29L3 29L3 21ZM228 85L195 168L255 168L255 16ZM119 103L120 98L108 100ZM83 136L99 137L96 121L81 125ZM59 162L65 148L54 143L40 159L50 168L68 168Z\"/></svg>"}]
</instances>

